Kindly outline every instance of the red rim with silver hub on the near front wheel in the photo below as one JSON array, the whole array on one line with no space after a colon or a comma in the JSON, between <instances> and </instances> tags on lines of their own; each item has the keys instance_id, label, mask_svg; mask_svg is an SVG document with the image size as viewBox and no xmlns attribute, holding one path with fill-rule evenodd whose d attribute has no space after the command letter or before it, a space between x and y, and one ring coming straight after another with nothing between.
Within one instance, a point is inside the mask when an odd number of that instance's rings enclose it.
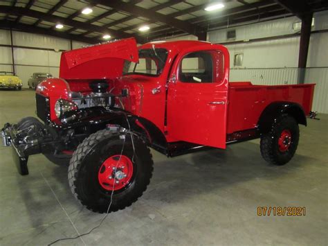
<instances>
[{"instance_id":1,"label":"red rim with silver hub on the near front wheel","mask_svg":"<svg viewBox=\"0 0 328 246\"><path fill-rule=\"evenodd\" d=\"M107 191L118 191L129 185L134 173L131 159L125 155L108 157L99 168L98 181Z\"/></svg>"}]
</instances>

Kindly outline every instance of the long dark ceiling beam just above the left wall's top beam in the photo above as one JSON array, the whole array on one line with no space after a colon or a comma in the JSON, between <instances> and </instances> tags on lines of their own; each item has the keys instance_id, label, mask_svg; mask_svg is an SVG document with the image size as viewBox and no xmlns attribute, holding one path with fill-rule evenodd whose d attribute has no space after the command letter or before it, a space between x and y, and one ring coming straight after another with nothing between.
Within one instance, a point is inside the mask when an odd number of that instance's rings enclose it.
<instances>
[{"instance_id":1,"label":"long dark ceiling beam just above the left wall's top beam","mask_svg":"<svg viewBox=\"0 0 328 246\"><path fill-rule=\"evenodd\" d=\"M109 30L108 28L103 28L102 26L95 26L95 25L87 24L87 23L84 23L81 21L75 21L73 19L66 19L64 17L59 17L56 15L49 15L48 13L44 13L44 12L40 12L40 11L28 10L26 8L1 6L0 12L3 12L3 13L10 12L11 15L17 15L17 16L25 15L25 16L29 16L29 17L33 17L33 18L39 18L39 19L43 19L45 21L52 22L54 24L57 22L60 22L61 24L66 25L66 26L74 26L76 28L80 28L80 29L84 29L84 30L93 30L98 33L110 33L112 36L114 36L116 38L131 37L131 35L129 35L128 33L123 33L118 30ZM143 44L143 41L144 41L143 38L138 37L136 35L134 35L134 37L136 37L137 42L139 42L140 44Z\"/></svg>"}]
</instances>

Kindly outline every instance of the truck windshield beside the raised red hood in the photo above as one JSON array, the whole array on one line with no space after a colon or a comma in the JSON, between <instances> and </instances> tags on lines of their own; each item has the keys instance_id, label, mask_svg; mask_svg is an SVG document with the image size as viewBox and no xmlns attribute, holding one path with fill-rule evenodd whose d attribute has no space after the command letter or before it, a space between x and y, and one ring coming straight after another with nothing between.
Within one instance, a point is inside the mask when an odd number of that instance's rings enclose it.
<instances>
[{"instance_id":1,"label":"truck windshield beside the raised red hood","mask_svg":"<svg viewBox=\"0 0 328 246\"><path fill-rule=\"evenodd\" d=\"M123 75L144 74L159 76L163 72L167 58L166 49L142 49L139 51L139 62L125 61Z\"/></svg>"}]
</instances>

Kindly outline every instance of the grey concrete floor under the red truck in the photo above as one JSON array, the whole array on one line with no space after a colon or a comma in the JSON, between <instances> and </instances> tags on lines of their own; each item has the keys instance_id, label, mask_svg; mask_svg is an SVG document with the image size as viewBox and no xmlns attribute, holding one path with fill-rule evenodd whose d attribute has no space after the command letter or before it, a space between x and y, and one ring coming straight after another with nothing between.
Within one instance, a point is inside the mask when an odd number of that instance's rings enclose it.
<instances>
[{"instance_id":1,"label":"grey concrete floor under the red truck","mask_svg":"<svg viewBox=\"0 0 328 246\"><path fill-rule=\"evenodd\" d=\"M0 91L0 125L34 115L34 91ZM259 141L174 159L153 150L152 182L138 202L57 245L327 245L328 115L320 118L300 127L286 166L266 164ZM0 148L0 245L77 236L69 218L80 234L98 225L103 215L75 201L66 167L35 155L29 169L20 176ZM306 216L260 217L259 206L306 207Z\"/></svg>"}]
</instances>

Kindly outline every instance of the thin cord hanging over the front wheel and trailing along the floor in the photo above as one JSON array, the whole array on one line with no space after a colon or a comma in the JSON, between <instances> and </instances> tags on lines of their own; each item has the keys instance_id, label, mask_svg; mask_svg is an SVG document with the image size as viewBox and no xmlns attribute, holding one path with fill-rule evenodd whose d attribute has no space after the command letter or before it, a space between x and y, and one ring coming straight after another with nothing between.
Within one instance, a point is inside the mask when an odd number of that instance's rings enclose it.
<instances>
[{"instance_id":1,"label":"thin cord hanging over the front wheel and trailing along the floor","mask_svg":"<svg viewBox=\"0 0 328 246\"><path fill-rule=\"evenodd\" d=\"M125 118L127 120L127 125L129 126L129 134L131 136L131 143L132 143L132 148L134 149L134 155L132 156L132 162L134 162L134 157L135 157L135 154L136 154L136 150L134 148L134 137L132 136L132 133L131 133L131 125L129 123L129 119L127 118L127 114L125 114ZM126 140L126 134L125 134L125 138L124 138L124 141L123 141L123 145L122 145L122 150L120 151L120 158L122 157L122 154L123 154L123 150L124 150L124 147L125 147L125 140ZM120 162L120 158L118 159L118 161L116 162L116 168L118 168L118 163ZM109 205L108 205L108 209L107 209L107 212L106 214L104 215L104 217L102 218L102 220L100 221L100 223L98 225L96 225L95 227L93 227L92 229L90 229L88 232L84 233L84 234L79 234L78 236L75 236L75 237L71 237L71 238L60 238L60 239L57 239L55 241L53 241L52 243L49 243L48 246L50 245L54 245L55 243L58 243L60 241L63 241L63 240L74 240L74 239L77 239L77 238L81 238L82 236L86 236L88 234L91 234L91 232L95 229L98 229L101 225L102 225L102 222L104 222L104 220L107 218L107 216L109 215L109 210L111 209L111 203L113 202L113 193L114 193L114 188L115 188L115 182L113 183L113 189L111 190L111 200L109 202ZM62 209L64 210L64 208L62 207ZM65 211L65 210L64 210Z\"/></svg>"}]
</instances>

